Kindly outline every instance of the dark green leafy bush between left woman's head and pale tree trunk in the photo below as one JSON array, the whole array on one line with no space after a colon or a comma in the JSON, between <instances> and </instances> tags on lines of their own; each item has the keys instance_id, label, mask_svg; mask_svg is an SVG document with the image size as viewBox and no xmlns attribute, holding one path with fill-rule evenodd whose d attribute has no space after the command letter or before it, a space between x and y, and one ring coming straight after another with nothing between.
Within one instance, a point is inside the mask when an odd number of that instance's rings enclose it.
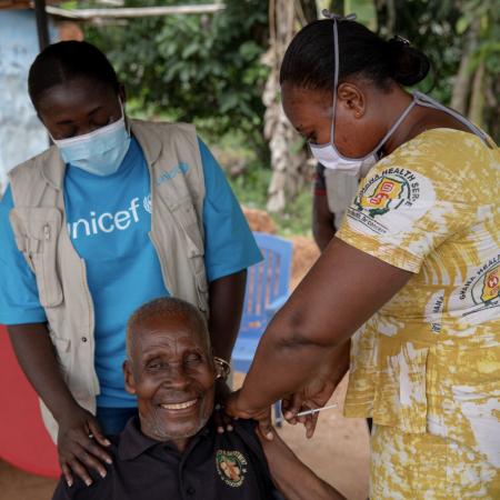
<instances>
[{"instance_id":1,"label":"dark green leafy bush between left woman's head and pale tree trunk","mask_svg":"<svg viewBox=\"0 0 500 500\"><path fill-rule=\"evenodd\" d=\"M126 7L178 3L128 0ZM216 14L88 27L86 38L108 54L134 109L146 116L168 113L179 121L197 121L211 137L242 130L262 150L261 93L268 70L260 58L267 44L267 2L224 3L226 10Z\"/></svg>"}]
</instances>

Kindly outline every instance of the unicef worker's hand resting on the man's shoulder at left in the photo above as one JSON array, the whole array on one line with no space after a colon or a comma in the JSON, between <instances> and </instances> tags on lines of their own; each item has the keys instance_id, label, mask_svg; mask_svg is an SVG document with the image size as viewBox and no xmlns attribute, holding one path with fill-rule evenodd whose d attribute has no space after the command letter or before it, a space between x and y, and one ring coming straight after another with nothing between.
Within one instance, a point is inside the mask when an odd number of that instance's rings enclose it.
<instances>
[{"instance_id":1,"label":"unicef worker's hand resting on the man's shoulder at left","mask_svg":"<svg viewBox=\"0 0 500 500\"><path fill-rule=\"evenodd\" d=\"M73 484L73 474L87 486L92 484L90 469L94 469L102 478L106 477L103 463L112 463L112 460L103 447L111 443L102 434L96 417L77 406L58 423L59 463L68 486Z\"/></svg>"}]
</instances>

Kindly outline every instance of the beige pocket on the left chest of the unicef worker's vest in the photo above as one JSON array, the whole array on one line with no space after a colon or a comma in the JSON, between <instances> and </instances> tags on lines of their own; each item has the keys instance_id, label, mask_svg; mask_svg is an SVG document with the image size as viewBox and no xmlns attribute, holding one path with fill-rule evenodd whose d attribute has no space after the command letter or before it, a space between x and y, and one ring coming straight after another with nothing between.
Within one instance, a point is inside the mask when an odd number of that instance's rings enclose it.
<instances>
[{"instance_id":1,"label":"beige pocket on the left chest of the unicef worker's vest","mask_svg":"<svg viewBox=\"0 0 500 500\"><path fill-rule=\"evenodd\" d=\"M63 298L57 271L61 220L61 212L56 208L21 207L10 212L16 243L34 273L43 308L57 307Z\"/></svg>"}]
</instances>

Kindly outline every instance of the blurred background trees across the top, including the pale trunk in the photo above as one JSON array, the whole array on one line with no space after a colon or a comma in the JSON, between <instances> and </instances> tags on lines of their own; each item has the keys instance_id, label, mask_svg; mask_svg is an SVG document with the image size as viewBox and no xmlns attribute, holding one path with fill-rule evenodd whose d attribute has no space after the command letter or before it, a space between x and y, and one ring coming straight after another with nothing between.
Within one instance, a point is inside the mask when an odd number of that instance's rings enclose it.
<instances>
[{"instance_id":1,"label":"blurred background trees across the top, including the pale trunk","mask_svg":"<svg viewBox=\"0 0 500 500\"><path fill-rule=\"evenodd\" d=\"M181 2L206 0L126 0L124 4ZM89 26L86 37L109 54L136 110L196 121L213 141L232 132L242 136L264 168L271 153L269 210L283 210L309 177L303 141L281 109L278 79L292 36L321 8L358 12L359 20L381 36L409 39L432 61L433 70L420 90L451 103L500 139L499 0L223 2L226 10L217 14ZM77 1L69 3L76 7ZM78 6L86 3L96 6L92 0Z\"/></svg>"}]
</instances>

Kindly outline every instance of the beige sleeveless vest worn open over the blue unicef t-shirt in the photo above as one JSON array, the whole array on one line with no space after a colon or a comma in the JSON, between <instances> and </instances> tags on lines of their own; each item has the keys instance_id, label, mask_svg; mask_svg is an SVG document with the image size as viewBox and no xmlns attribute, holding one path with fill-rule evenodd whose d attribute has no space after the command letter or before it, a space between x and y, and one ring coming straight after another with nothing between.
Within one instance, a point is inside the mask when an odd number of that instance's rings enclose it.
<instances>
[{"instance_id":1,"label":"beige sleeveless vest worn open over the blue unicef t-shirt","mask_svg":"<svg viewBox=\"0 0 500 500\"><path fill-rule=\"evenodd\" d=\"M196 129L184 123L131 120L131 131L150 173L149 236L164 286L208 317L204 180ZM63 379L78 403L96 413L100 388L94 369L94 311L86 262L66 229L64 171L56 147L14 168L9 173L14 204L10 222L18 249L36 276ZM43 421L56 442L57 422L40 402Z\"/></svg>"}]
</instances>

